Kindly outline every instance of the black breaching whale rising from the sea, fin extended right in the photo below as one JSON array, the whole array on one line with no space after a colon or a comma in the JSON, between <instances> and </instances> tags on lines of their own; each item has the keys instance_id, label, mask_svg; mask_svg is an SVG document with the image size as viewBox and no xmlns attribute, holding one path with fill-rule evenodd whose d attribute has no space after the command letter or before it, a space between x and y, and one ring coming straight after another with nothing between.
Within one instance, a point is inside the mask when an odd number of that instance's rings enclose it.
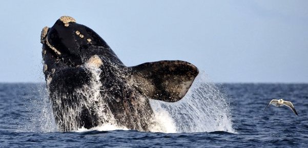
<instances>
[{"instance_id":1,"label":"black breaching whale rising from the sea, fin extended right","mask_svg":"<svg viewBox=\"0 0 308 148\"><path fill-rule=\"evenodd\" d=\"M105 123L149 131L155 124L149 99L180 100L198 69L186 61L162 60L126 67L107 43L70 16L44 27L43 71L61 132Z\"/></svg>"}]
</instances>

